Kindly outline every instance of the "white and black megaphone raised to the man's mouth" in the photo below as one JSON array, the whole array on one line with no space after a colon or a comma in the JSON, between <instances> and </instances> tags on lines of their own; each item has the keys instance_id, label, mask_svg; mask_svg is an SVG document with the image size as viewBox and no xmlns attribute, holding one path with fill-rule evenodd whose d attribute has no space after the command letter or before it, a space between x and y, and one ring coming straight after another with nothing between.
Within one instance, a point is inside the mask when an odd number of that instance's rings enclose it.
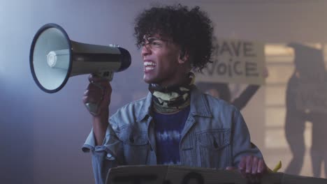
<instances>
[{"instance_id":1,"label":"white and black megaphone raised to the man's mouth","mask_svg":"<svg viewBox=\"0 0 327 184\"><path fill-rule=\"evenodd\" d=\"M129 68L131 54L118 45L75 42L58 24L45 24L33 38L29 64L38 87L55 93L75 75L95 73L111 80L113 72Z\"/></svg>"}]
</instances>

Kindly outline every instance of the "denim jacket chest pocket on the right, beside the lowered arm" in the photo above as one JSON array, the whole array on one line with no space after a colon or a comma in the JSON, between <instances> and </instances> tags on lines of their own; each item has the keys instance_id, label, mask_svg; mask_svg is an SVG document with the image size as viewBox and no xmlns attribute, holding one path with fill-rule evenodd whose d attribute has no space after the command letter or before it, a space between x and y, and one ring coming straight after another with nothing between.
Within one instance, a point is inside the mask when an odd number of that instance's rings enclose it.
<instances>
[{"instance_id":1,"label":"denim jacket chest pocket on the right, beside the lowered arm","mask_svg":"<svg viewBox=\"0 0 327 184\"><path fill-rule=\"evenodd\" d=\"M231 164L231 130L205 130L196 133L201 167L225 168Z\"/></svg>"}]
</instances>

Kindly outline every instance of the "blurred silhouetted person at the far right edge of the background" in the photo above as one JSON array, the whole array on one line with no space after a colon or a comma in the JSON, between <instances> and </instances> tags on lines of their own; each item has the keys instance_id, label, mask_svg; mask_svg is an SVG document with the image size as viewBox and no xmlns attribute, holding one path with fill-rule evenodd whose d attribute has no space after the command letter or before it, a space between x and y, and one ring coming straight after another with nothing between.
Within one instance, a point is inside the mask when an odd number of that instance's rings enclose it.
<instances>
[{"instance_id":1,"label":"blurred silhouetted person at the far right edge of the background","mask_svg":"<svg viewBox=\"0 0 327 184\"><path fill-rule=\"evenodd\" d=\"M326 71L321 50L296 43L289 44L295 51L295 70L286 88L286 141L293 158L285 172L299 174L305 155L305 121L312 123L310 150L315 177L321 175L321 162L325 161L327 176L327 91ZM322 102L322 104L321 104ZM325 105L323 105L325 104Z\"/></svg>"}]
</instances>

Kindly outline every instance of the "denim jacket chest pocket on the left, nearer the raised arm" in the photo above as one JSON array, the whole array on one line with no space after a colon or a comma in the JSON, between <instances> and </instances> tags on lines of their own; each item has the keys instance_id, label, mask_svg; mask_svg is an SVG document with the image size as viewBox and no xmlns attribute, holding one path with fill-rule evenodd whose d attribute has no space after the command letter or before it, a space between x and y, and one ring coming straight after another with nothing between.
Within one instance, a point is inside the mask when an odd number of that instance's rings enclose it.
<instances>
[{"instance_id":1,"label":"denim jacket chest pocket on the left, nearer the raised arm","mask_svg":"<svg viewBox=\"0 0 327 184\"><path fill-rule=\"evenodd\" d=\"M147 132L133 130L130 126L122 128L126 164L146 164L149 141Z\"/></svg>"}]
</instances>

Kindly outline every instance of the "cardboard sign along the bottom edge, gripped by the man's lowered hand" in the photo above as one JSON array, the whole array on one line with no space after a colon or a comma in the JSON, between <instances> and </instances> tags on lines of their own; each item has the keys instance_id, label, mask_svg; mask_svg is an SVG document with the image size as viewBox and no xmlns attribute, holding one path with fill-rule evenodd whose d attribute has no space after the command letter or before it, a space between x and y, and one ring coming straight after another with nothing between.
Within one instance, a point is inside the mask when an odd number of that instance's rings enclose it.
<instances>
[{"instance_id":1,"label":"cardboard sign along the bottom edge, gripped by the man's lowered hand","mask_svg":"<svg viewBox=\"0 0 327 184\"><path fill-rule=\"evenodd\" d=\"M238 171L200 167L138 165L110 169L107 184L247 184ZM327 179L268 173L261 184L323 184Z\"/></svg>"}]
</instances>

